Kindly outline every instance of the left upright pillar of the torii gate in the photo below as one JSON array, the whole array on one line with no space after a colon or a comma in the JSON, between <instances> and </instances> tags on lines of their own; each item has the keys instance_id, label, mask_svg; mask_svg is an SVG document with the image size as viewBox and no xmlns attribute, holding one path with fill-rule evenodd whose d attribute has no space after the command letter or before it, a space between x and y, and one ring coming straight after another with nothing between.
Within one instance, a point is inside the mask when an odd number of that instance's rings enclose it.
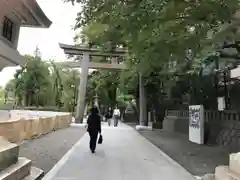
<instances>
[{"instance_id":1,"label":"left upright pillar of the torii gate","mask_svg":"<svg viewBox=\"0 0 240 180\"><path fill-rule=\"evenodd\" d=\"M82 59L81 75L80 75L80 84L78 91L78 101L77 101L77 113L76 113L76 123L82 123L84 117L85 109L85 96L87 89L87 80L88 80L88 67L89 67L89 53L85 52Z\"/></svg>"}]
</instances>

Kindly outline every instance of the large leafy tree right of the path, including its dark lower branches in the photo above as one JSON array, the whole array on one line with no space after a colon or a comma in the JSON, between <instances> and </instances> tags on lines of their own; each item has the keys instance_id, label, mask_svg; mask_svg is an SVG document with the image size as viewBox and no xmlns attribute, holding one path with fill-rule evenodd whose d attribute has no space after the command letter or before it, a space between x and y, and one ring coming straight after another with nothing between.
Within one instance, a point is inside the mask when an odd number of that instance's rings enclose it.
<instances>
[{"instance_id":1,"label":"large leafy tree right of the path, including its dark lower branches","mask_svg":"<svg viewBox=\"0 0 240 180\"><path fill-rule=\"evenodd\" d=\"M186 90L179 82L189 85L195 79L198 83L191 85L202 90L203 60L218 52L219 42L222 44L236 26L233 15L239 9L237 0L71 1L83 6L76 23L76 28L83 28L81 37L103 50L118 46L128 49L125 63L130 70L122 74L121 84L138 99L137 77L141 71L148 105L156 112L174 104L169 103L173 102L173 90L182 92L179 96L196 97L201 93ZM186 73L189 75L184 76Z\"/></svg>"}]
</instances>

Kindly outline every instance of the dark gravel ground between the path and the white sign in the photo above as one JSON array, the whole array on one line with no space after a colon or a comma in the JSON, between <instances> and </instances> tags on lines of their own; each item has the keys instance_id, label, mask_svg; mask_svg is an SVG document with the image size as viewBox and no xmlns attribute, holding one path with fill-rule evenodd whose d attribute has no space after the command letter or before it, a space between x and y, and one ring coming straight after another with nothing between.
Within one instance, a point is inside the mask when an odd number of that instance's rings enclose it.
<instances>
[{"instance_id":1,"label":"dark gravel ground between the path and the white sign","mask_svg":"<svg viewBox=\"0 0 240 180\"><path fill-rule=\"evenodd\" d=\"M228 165L229 153L221 147L194 144L179 133L156 130L140 134L195 176L213 173L218 165Z\"/></svg>"}]
</instances>

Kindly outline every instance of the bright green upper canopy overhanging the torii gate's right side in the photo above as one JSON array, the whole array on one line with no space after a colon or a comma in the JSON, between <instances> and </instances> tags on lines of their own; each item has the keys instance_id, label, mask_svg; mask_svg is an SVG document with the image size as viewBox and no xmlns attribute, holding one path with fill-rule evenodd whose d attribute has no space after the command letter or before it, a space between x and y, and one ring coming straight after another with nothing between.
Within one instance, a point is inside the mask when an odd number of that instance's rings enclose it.
<instances>
[{"instance_id":1,"label":"bright green upper canopy overhanging the torii gate's right side","mask_svg":"<svg viewBox=\"0 0 240 180\"><path fill-rule=\"evenodd\" d=\"M84 27L91 43L124 45L140 69L150 72L172 58L182 63L188 49L199 53L209 31L219 32L239 8L238 0L71 1L83 5L76 28Z\"/></svg>"}]
</instances>

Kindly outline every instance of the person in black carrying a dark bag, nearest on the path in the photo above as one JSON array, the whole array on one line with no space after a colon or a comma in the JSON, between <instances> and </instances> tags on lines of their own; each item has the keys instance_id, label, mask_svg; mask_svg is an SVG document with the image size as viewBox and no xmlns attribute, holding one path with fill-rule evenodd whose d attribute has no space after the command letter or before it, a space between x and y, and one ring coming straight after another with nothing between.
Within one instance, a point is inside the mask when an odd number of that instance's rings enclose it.
<instances>
[{"instance_id":1,"label":"person in black carrying a dark bag, nearest on the path","mask_svg":"<svg viewBox=\"0 0 240 180\"><path fill-rule=\"evenodd\" d=\"M92 153L95 153L98 133L100 133L101 135L101 117L99 115L97 107L93 107L91 109L90 115L88 116L87 124L87 131L90 136L90 150L92 151Z\"/></svg>"}]
</instances>

